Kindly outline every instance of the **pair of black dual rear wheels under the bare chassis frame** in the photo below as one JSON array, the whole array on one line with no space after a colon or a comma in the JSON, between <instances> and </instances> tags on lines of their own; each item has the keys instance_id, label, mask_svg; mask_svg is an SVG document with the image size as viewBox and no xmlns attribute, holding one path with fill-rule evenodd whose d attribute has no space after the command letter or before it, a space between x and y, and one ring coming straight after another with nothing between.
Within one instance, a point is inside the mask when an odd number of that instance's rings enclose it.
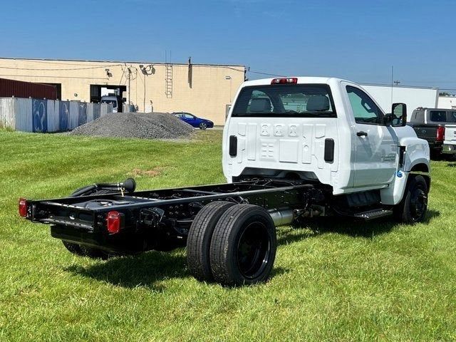
<instances>
[{"instance_id":1,"label":"pair of black dual rear wheels under the bare chassis frame","mask_svg":"<svg viewBox=\"0 0 456 342\"><path fill-rule=\"evenodd\" d=\"M269 278L276 246L274 222L264 208L211 202L190 227L187 263L202 281L227 286L257 284Z\"/></svg>"}]
</instances>

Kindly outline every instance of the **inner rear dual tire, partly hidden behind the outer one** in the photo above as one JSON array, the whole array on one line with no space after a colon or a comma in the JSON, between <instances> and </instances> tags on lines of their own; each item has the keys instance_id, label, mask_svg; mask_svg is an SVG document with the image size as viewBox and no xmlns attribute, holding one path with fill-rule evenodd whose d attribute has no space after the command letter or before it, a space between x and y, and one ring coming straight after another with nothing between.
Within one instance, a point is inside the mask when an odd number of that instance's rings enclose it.
<instances>
[{"instance_id":1,"label":"inner rear dual tire, partly hidden behind the outer one","mask_svg":"<svg viewBox=\"0 0 456 342\"><path fill-rule=\"evenodd\" d=\"M212 232L219 218L234 203L216 201L202 207L192 222L187 237L187 265L196 279L213 281L209 262Z\"/></svg>"}]
</instances>

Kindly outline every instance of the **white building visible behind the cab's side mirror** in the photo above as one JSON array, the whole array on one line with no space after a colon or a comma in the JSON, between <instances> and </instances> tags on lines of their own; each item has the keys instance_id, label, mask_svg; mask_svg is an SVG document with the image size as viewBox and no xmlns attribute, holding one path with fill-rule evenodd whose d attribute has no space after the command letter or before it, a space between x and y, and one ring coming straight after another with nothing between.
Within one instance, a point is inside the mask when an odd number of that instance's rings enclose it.
<instances>
[{"instance_id":1,"label":"white building visible behind the cab's side mirror","mask_svg":"<svg viewBox=\"0 0 456 342\"><path fill-rule=\"evenodd\" d=\"M435 108L439 90L437 88L415 88L404 86L361 85L380 105L385 113L391 113L393 103L405 103L407 115L418 107ZM393 92L393 101L391 101Z\"/></svg>"}]
</instances>

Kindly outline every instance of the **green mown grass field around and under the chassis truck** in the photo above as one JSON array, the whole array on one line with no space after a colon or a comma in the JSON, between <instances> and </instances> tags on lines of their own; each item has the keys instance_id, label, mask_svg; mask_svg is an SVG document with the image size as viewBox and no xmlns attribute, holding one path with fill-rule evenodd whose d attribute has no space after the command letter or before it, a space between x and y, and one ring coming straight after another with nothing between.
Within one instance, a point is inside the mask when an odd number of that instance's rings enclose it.
<instances>
[{"instance_id":1,"label":"green mown grass field around and under the chassis truck","mask_svg":"<svg viewBox=\"0 0 456 342\"><path fill-rule=\"evenodd\" d=\"M221 131L165 142L0 130L0 341L456 341L456 167L432 162L427 221L279 229L267 284L193 279L185 249L75 257L18 197L134 175L140 190L223 182Z\"/></svg>"}]
</instances>

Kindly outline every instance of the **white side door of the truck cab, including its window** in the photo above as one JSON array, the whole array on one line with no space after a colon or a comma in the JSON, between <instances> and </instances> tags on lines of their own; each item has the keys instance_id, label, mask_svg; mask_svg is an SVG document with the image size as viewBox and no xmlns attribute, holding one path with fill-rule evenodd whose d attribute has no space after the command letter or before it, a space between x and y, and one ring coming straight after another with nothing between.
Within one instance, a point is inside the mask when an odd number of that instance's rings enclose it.
<instances>
[{"instance_id":1,"label":"white side door of the truck cab, including its window","mask_svg":"<svg viewBox=\"0 0 456 342\"><path fill-rule=\"evenodd\" d=\"M361 88L346 84L346 96L355 124L353 187L390 184L396 170L397 142L383 124L383 112Z\"/></svg>"}]
</instances>

